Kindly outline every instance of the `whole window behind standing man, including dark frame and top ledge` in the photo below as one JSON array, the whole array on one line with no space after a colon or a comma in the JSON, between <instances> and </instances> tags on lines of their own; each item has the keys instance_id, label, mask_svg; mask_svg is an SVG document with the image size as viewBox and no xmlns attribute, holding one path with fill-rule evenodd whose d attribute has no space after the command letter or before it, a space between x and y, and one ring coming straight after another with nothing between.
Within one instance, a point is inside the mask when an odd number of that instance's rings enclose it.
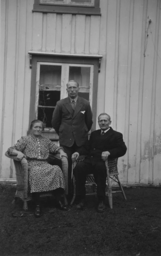
<instances>
[{"instance_id":1,"label":"whole window behind standing man, including dark frame and top ledge","mask_svg":"<svg viewBox=\"0 0 161 256\"><path fill-rule=\"evenodd\" d=\"M51 140L59 137L51 126L52 114L58 100L68 97L66 84L69 80L79 83L80 97L89 100L93 112L92 129L96 128L98 57L49 56L30 52L31 93L30 120L45 123L44 136Z\"/></svg>"}]
</instances>

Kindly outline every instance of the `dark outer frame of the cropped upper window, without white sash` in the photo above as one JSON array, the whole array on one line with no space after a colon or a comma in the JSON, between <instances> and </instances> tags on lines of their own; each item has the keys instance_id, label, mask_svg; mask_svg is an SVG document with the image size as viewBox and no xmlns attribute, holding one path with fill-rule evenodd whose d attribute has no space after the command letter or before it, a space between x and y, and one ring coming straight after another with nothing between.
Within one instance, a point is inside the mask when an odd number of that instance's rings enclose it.
<instances>
[{"instance_id":1,"label":"dark outer frame of the cropped upper window, without white sash","mask_svg":"<svg viewBox=\"0 0 161 256\"><path fill-rule=\"evenodd\" d=\"M40 0L34 0L33 12L52 12L52 13L71 13L85 15L101 15L100 0L94 0L94 6L74 5L61 3L40 3Z\"/></svg>"}]
</instances>

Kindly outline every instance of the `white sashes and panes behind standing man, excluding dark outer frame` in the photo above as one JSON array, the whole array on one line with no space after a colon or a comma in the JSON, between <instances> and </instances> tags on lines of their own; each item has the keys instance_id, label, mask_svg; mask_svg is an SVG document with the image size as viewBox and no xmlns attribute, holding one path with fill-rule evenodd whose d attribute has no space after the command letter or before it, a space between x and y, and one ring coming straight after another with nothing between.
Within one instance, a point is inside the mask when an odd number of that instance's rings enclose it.
<instances>
[{"instance_id":1,"label":"white sashes and panes behind standing man, excluding dark outer frame","mask_svg":"<svg viewBox=\"0 0 161 256\"><path fill-rule=\"evenodd\" d=\"M44 122L45 130L54 130L52 114L57 101L67 97L66 84L75 80L80 97L90 101L92 107L93 65L37 62L35 119Z\"/></svg>"}]
</instances>

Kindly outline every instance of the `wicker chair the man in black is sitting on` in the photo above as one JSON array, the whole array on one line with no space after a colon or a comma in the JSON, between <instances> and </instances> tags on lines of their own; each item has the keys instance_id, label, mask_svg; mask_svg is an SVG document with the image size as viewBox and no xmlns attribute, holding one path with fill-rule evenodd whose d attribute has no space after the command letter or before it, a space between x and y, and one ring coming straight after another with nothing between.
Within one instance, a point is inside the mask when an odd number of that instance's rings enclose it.
<instances>
[{"instance_id":1,"label":"wicker chair the man in black is sitting on","mask_svg":"<svg viewBox=\"0 0 161 256\"><path fill-rule=\"evenodd\" d=\"M73 163L72 170L75 168L76 164L82 162L85 157L86 156L79 156L79 158ZM107 185L107 190L108 190L106 192L106 196L108 195L109 205L110 205L111 209L112 209L112 193L122 192L123 197L126 200L126 196L124 194L124 190L122 188L122 185L121 185L119 177L118 177L119 173L118 173L118 170L117 170L117 160L118 160L118 158L112 158L112 159L108 159L108 160L105 161L106 170L107 170L106 185ZM72 171L72 173L73 173L73 171ZM111 180L110 180L110 178L111 178ZM118 183L118 185L120 187L120 190L112 191L112 183L113 183L113 181ZM75 197L76 197L76 182L75 182L75 177L74 176L73 176L73 185L74 185L74 195L73 195L73 198L71 200L70 205L73 204L73 202L75 200ZM93 193L88 193L86 195L94 195L94 194L96 194L96 183L95 183L93 174L88 174L86 176L86 185L87 186L91 185L93 187Z\"/></svg>"}]
</instances>

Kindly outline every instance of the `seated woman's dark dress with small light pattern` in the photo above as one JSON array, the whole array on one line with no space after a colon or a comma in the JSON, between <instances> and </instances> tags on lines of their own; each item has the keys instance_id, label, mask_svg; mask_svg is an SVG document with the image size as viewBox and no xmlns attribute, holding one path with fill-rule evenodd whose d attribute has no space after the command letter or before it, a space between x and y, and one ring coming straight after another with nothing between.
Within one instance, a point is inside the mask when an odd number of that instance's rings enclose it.
<instances>
[{"instance_id":1,"label":"seated woman's dark dress with small light pattern","mask_svg":"<svg viewBox=\"0 0 161 256\"><path fill-rule=\"evenodd\" d=\"M41 135L39 138L29 135L22 137L13 147L10 147L7 150L8 154L12 155L14 149L21 151L27 158L31 193L57 188L65 189L64 176L60 167L47 163L49 153L57 154L63 148L57 147Z\"/></svg>"}]
</instances>

